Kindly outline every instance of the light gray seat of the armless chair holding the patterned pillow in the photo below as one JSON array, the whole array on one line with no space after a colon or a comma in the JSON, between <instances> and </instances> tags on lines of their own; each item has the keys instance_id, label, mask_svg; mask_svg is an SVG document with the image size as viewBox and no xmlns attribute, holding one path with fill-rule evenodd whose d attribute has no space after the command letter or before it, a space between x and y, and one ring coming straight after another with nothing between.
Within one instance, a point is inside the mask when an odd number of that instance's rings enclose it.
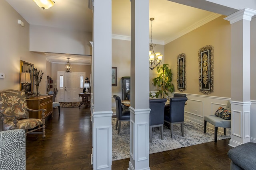
<instances>
[{"instance_id":1,"label":"light gray seat of the armless chair holding the patterned pillow","mask_svg":"<svg viewBox=\"0 0 256 170\"><path fill-rule=\"evenodd\" d=\"M215 127L231 127L231 120L225 120L216 115L204 116L204 120L211 123Z\"/></svg>"}]
</instances>

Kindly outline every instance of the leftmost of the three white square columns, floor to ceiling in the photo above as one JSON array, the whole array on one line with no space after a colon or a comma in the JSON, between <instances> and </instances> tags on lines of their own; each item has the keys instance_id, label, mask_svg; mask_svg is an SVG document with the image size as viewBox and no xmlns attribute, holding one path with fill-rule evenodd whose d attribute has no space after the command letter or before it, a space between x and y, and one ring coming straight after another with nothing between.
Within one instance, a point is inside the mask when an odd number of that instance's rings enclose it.
<instances>
[{"instance_id":1,"label":"leftmost of the three white square columns, floor to ceiling","mask_svg":"<svg viewBox=\"0 0 256 170\"><path fill-rule=\"evenodd\" d=\"M93 169L111 170L112 1L94 0L93 12Z\"/></svg>"}]
</instances>

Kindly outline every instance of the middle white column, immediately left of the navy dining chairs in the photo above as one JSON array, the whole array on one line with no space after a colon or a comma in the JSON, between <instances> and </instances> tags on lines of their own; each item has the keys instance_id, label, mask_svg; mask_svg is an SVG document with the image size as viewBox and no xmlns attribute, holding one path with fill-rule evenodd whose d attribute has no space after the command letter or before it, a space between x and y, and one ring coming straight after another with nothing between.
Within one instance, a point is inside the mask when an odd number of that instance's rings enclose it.
<instances>
[{"instance_id":1,"label":"middle white column, immediately left of the navy dining chairs","mask_svg":"<svg viewBox=\"0 0 256 170\"><path fill-rule=\"evenodd\" d=\"M149 170L149 0L131 0L130 170Z\"/></svg>"}]
</instances>

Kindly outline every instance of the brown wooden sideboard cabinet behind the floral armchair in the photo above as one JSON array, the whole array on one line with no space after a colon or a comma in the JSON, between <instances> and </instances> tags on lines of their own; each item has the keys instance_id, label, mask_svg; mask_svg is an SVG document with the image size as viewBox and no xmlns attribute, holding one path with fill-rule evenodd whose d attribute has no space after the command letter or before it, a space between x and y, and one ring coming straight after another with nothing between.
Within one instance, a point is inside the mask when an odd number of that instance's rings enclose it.
<instances>
[{"instance_id":1,"label":"brown wooden sideboard cabinet behind the floral armchair","mask_svg":"<svg viewBox=\"0 0 256 170\"><path fill-rule=\"evenodd\" d=\"M32 97L27 99L27 104L29 109L46 109L45 117L52 114L52 95L49 96L39 96L39 97ZM29 118L42 118L42 111L38 112L29 112Z\"/></svg>"}]
</instances>

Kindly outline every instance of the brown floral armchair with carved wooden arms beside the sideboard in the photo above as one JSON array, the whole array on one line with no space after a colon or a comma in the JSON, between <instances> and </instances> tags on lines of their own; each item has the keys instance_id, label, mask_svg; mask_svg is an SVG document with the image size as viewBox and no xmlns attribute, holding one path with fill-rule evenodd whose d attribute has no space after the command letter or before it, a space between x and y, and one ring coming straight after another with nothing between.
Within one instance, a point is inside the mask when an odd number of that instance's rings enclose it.
<instances>
[{"instance_id":1,"label":"brown floral armchair with carved wooden arms beside the sideboard","mask_svg":"<svg viewBox=\"0 0 256 170\"><path fill-rule=\"evenodd\" d=\"M29 118L28 111L42 111L42 118ZM3 131L24 129L26 134L42 133L42 137L44 138L45 111L46 109L28 109L24 90L5 90L0 92L0 116ZM42 129L42 131L38 131L39 129Z\"/></svg>"}]
</instances>

